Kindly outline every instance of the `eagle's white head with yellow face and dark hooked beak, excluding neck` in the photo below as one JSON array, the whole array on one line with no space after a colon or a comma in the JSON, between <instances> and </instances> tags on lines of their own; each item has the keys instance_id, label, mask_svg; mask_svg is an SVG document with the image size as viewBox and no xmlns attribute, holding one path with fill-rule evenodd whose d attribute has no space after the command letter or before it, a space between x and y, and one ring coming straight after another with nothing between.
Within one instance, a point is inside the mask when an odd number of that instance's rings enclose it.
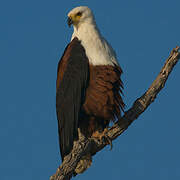
<instances>
[{"instance_id":1,"label":"eagle's white head with yellow face and dark hooked beak, excluding neck","mask_svg":"<svg viewBox=\"0 0 180 180\"><path fill-rule=\"evenodd\" d=\"M87 6L80 6L72 9L68 13L68 25L73 24L74 28L78 29L84 23L94 23L94 15Z\"/></svg>"}]
</instances>

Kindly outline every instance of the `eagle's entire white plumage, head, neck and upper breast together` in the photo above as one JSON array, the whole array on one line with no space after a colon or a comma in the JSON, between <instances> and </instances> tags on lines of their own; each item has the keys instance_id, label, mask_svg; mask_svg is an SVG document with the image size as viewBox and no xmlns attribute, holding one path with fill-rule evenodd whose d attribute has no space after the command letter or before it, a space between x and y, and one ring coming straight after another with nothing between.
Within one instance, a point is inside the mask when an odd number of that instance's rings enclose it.
<instances>
[{"instance_id":1,"label":"eagle's entire white plumage, head, neck and upper breast together","mask_svg":"<svg viewBox=\"0 0 180 180\"><path fill-rule=\"evenodd\" d=\"M77 37L86 51L90 64L118 64L116 54L97 28L94 15L87 6L80 6L68 13L68 25L73 25L72 39Z\"/></svg>"}]
</instances>

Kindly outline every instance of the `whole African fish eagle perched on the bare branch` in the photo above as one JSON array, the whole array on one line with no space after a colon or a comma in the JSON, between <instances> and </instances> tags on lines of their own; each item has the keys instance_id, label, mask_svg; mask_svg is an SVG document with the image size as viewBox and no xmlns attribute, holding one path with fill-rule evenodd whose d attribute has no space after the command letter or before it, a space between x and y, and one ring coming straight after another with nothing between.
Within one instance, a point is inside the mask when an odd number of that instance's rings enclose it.
<instances>
[{"instance_id":1,"label":"whole African fish eagle perched on the bare branch","mask_svg":"<svg viewBox=\"0 0 180 180\"><path fill-rule=\"evenodd\" d=\"M73 25L74 32L59 61L56 82L62 161L79 133L102 137L110 121L119 119L124 108L122 70L92 11L86 6L76 7L69 12L67 23Z\"/></svg>"}]
</instances>

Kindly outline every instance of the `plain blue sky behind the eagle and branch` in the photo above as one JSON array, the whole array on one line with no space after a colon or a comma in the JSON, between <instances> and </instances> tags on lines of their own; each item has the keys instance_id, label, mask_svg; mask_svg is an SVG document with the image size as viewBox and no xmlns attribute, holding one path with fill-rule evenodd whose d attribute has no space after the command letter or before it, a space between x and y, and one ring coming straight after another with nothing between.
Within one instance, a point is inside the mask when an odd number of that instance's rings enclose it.
<instances>
[{"instance_id":1,"label":"plain blue sky behind the eagle and branch","mask_svg":"<svg viewBox=\"0 0 180 180\"><path fill-rule=\"evenodd\" d=\"M60 164L55 82L73 7L88 5L118 55L127 109L180 45L179 0L0 1L0 179L49 179ZM180 64L156 101L79 180L180 179Z\"/></svg>"}]
</instances>

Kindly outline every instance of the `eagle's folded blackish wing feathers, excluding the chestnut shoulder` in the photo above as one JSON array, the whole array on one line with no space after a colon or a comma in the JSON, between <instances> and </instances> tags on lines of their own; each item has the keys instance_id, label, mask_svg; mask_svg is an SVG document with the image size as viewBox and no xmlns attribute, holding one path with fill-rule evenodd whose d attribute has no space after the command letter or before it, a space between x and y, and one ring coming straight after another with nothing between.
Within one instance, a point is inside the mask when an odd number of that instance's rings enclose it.
<instances>
[{"instance_id":1,"label":"eagle's folded blackish wing feathers, excluding the chestnut shoulder","mask_svg":"<svg viewBox=\"0 0 180 180\"><path fill-rule=\"evenodd\" d=\"M78 120L88 83L88 59L80 41L71 47L67 67L56 92L59 143L62 160L70 153L78 138ZM64 56L68 51L66 48Z\"/></svg>"}]
</instances>

